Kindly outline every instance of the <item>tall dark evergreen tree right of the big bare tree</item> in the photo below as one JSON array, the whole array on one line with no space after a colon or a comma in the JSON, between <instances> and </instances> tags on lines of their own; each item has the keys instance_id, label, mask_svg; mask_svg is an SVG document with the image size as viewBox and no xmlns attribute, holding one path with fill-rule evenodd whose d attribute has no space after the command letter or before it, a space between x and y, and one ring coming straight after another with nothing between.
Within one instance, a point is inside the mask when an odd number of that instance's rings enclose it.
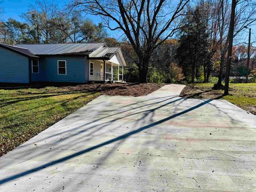
<instances>
[{"instance_id":1,"label":"tall dark evergreen tree right of the big bare tree","mask_svg":"<svg viewBox=\"0 0 256 192\"><path fill-rule=\"evenodd\" d=\"M183 21L185 27L180 30L179 46L176 57L186 77L191 74L191 82L199 78L199 71L204 69L204 81L207 82L211 73L212 61L210 54L208 24L204 10L197 6L189 9Z\"/></svg>"}]
</instances>

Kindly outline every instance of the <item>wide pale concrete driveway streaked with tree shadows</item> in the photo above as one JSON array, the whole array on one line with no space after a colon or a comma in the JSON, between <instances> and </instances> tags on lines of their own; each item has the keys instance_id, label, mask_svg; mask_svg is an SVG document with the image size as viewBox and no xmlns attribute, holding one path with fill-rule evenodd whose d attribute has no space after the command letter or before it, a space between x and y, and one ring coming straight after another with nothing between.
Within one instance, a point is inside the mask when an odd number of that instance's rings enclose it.
<instances>
[{"instance_id":1,"label":"wide pale concrete driveway streaked with tree shadows","mask_svg":"<svg viewBox=\"0 0 256 192\"><path fill-rule=\"evenodd\" d=\"M0 191L255 191L256 116L225 100L100 96L0 158Z\"/></svg>"}]
</instances>

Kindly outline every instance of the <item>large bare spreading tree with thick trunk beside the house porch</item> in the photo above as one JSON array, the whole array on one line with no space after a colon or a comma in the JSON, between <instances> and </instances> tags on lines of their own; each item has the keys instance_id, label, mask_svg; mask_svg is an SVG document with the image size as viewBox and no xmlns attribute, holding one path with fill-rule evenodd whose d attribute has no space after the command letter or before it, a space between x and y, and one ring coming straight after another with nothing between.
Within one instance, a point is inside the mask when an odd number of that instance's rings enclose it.
<instances>
[{"instance_id":1,"label":"large bare spreading tree with thick trunk beside the house porch","mask_svg":"<svg viewBox=\"0 0 256 192\"><path fill-rule=\"evenodd\" d=\"M137 55L139 82L147 82L152 53L181 27L190 0L73 0L70 8L100 15L104 26L121 30Z\"/></svg>"}]
</instances>

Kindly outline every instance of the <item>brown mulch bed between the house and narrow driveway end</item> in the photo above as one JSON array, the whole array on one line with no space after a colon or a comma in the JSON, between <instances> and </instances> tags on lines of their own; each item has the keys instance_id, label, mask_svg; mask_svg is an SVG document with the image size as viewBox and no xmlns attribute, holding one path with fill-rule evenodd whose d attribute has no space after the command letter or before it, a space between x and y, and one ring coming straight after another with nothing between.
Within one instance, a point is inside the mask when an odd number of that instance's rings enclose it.
<instances>
[{"instance_id":1,"label":"brown mulch bed between the house and narrow driveway end","mask_svg":"<svg viewBox=\"0 0 256 192\"><path fill-rule=\"evenodd\" d=\"M122 95L122 96L143 96L151 92L154 92L166 84L156 84L156 83L106 83L106 84L83 84L76 86L66 86L62 87L70 91L90 91L90 92L101 92L105 95Z\"/></svg>"}]
</instances>

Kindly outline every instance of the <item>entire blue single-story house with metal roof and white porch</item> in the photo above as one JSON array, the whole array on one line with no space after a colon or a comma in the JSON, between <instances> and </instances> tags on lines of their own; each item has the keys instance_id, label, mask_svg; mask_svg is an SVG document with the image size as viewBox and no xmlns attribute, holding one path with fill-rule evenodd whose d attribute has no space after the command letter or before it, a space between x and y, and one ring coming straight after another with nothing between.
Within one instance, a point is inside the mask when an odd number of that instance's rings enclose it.
<instances>
[{"instance_id":1,"label":"entire blue single-story house with metal roof and white porch","mask_svg":"<svg viewBox=\"0 0 256 192\"><path fill-rule=\"evenodd\" d=\"M0 82L122 82L126 66L119 47L105 43L0 43Z\"/></svg>"}]
</instances>

